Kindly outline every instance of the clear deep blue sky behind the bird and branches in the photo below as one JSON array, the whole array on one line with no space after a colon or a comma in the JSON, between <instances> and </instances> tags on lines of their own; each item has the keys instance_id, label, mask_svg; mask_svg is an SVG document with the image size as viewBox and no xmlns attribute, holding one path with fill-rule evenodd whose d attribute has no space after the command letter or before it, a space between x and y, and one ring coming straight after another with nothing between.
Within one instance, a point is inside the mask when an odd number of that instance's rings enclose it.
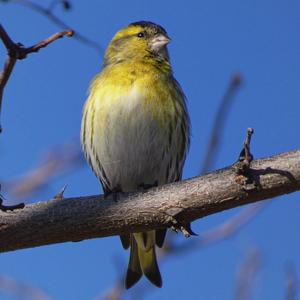
<instances>
[{"instance_id":1,"label":"clear deep blue sky behind the bird and branches","mask_svg":"<svg viewBox=\"0 0 300 300\"><path fill-rule=\"evenodd\" d=\"M117 30L133 21L151 20L168 31L174 73L188 98L192 122L185 178L200 169L215 112L235 72L244 83L230 109L214 168L236 160L247 127L255 130L256 158L299 147L299 1L72 3L71 11L57 7L56 14L103 49ZM0 4L0 20L15 41L28 46L59 31L45 17L15 4ZM1 65L5 53L1 46ZM102 56L75 39L63 39L17 63L4 94L0 180L34 168L49 148L71 139L78 142L87 88ZM51 182L29 201L49 199L66 183L67 197L100 192L85 166ZM294 193L271 201L229 240L170 258L161 265L164 287L146 298L234 299L239 265L249 249L258 249L262 267L252 299L282 299L286 262L300 270L298 197ZM198 220L194 228L205 232L239 210ZM51 245L1 254L0 274L38 286L53 299L95 299L114 284L127 256L116 237Z\"/></svg>"}]
</instances>

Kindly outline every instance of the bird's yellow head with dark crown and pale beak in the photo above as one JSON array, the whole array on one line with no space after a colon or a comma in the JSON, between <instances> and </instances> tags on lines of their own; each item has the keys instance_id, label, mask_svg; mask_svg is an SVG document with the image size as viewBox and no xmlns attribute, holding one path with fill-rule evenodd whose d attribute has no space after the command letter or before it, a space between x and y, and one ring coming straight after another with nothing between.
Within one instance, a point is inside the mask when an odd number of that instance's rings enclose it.
<instances>
[{"instance_id":1,"label":"bird's yellow head with dark crown and pale beak","mask_svg":"<svg viewBox=\"0 0 300 300\"><path fill-rule=\"evenodd\" d=\"M149 57L168 61L169 42L167 32L160 25L146 21L131 23L113 37L106 50L104 64Z\"/></svg>"}]
</instances>

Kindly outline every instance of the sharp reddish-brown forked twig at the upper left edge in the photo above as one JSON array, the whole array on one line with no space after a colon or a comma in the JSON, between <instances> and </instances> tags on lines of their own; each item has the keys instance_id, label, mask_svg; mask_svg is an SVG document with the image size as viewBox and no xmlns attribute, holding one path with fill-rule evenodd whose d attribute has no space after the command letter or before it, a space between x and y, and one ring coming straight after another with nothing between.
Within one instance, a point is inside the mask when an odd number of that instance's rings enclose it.
<instances>
[{"instance_id":1,"label":"sharp reddish-brown forked twig at the upper left edge","mask_svg":"<svg viewBox=\"0 0 300 300\"><path fill-rule=\"evenodd\" d=\"M0 38L5 45L8 56L4 65L4 69L0 74L0 117L1 117L1 109L2 109L2 98L3 91L7 84L7 81L11 75L11 72L15 66L17 59L24 59L28 54L38 52L41 48L46 47L50 43L56 41L63 36L72 36L72 30L66 30L52 35L51 37L33 45L31 47L25 48L20 43L14 43L12 39L9 37L3 26L0 24ZM2 131L1 122L0 122L0 132Z\"/></svg>"}]
</instances>

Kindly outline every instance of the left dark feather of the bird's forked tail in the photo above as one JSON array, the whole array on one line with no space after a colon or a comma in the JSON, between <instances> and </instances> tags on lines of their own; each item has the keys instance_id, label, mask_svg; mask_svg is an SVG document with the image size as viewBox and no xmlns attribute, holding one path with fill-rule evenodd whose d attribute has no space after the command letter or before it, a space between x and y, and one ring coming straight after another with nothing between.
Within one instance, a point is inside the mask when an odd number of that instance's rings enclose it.
<instances>
[{"instance_id":1,"label":"left dark feather of the bird's forked tail","mask_svg":"<svg viewBox=\"0 0 300 300\"><path fill-rule=\"evenodd\" d=\"M130 257L128 263L128 269L125 279L126 289L131 288L136 284L142 277L142 269L140 266L139 255L138 255L138 246L133 237L130 235Z\"/></svg>"}]
</instances>

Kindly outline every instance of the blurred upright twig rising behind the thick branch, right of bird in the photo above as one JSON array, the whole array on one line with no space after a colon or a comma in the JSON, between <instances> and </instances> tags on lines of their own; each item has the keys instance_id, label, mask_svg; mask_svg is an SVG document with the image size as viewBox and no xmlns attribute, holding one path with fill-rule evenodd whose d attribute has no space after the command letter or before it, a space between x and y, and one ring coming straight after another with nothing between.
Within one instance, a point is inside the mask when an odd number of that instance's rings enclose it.
<instances>
[{"instance_id":1,"label":"blurred upright twig rising behind the thick branch, right of bird","mask_svg":"<svg viewBox=\"0 0 300 300\"><path fill-rule=\"evenodd\" d=\"M213 162L216 160L216 156L219 150L220 139L223 133L224 124L228 117L228 110L235 98L235 95L241 86L242 77L240 74L235 74L225 92L225 95L218 108L215 120L213 122L213 128L210 134L210 140L208 142L206 154L204 156L203 166L200 174L204 174L211 170Z\"/></svg>"}]
</instances>

